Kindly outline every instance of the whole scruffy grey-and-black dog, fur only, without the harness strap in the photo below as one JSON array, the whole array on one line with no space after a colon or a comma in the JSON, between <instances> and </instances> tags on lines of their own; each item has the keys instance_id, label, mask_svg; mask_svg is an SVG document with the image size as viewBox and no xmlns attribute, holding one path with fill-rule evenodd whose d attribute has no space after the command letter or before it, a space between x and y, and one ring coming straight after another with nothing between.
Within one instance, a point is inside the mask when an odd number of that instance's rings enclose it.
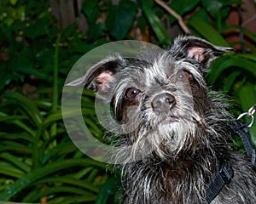
<instances>
[{"instance_id":1,"label":"whole scruffy grey-and-black dog, fur only, without the harness strap","mask_svg":"<svg viewBox=\"0 0 256 204\"><path fill-rule=\"evenodd\" d=\"M137 59L103 59L69 84L85 84L113 107L122 203L207 203L206 186L222 162L230 164L234 177L211 203L256 203L253 167L229 145L233 119L225 99L204 80L212 60L231 50L177 37L171 48Z\"/></svg>"}]
</instances>

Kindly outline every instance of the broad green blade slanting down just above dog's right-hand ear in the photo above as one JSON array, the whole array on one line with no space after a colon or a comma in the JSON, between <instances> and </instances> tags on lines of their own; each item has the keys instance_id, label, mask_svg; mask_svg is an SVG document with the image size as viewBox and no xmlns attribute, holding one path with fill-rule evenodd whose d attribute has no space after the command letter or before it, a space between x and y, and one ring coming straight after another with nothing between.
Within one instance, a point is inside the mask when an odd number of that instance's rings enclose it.
<instances>
[{"instance_id":1,"label":"broad green blade slanting down just above dog's right-hand ear","mask_svg":"<svg viewBox=\"0 0 256 204\"><path fill-rule=\"evenodd\" d=\"M219 46L229 47L229 44L218 34L218 31L215 31L212 26L209 26L205 21L198 17L191 18L189 20L189 25L193 27L201 37L206 38L209 42Z\"/></svg>"}]
</instances>

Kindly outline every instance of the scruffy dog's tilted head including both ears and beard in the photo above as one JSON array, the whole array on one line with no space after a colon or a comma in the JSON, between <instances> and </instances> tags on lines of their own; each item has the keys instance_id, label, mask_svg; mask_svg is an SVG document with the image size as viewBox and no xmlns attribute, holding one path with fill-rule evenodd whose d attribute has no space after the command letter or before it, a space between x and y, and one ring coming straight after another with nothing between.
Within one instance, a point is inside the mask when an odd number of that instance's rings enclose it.
<instances>
[{"instance_id":1,"label":"scruffy dog's tilted head including both ears and beard","mask_svg":"<svg viewBox=\"0 0 256 204\"><path fill-rule=\"evenodd\" d=\"M121 159L148 151L166 159L207 143L197 138L203 135L199 132L205 130L204 116L211 106L203 76L213 59L230 50L200 38L178 37L160 53L103 59L67 85L85 83L112 105L116 124L122 124L122 145L132 144Z\"/></svg>"}]
</instances>

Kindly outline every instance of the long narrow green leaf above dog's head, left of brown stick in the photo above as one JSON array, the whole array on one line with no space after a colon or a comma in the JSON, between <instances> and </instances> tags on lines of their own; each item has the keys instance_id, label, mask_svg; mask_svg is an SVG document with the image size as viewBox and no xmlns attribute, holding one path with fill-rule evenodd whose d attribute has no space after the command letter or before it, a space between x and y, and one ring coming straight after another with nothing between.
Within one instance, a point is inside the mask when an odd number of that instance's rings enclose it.
<instances>
[{"instance_id":1,"label":"long narrow green leaf above dog's head, left of brown stick","mask_svg":"<svg viewBox=\"0 0 256 204\"><path fill-rule=\"evenodd\" d=\"M160 42L169 44L170 40L166 33L166 29L162 26L160 19L156 14L154 14L152 8L148 7L147 3L143 3L143 12L146 15L148 22L156 37L159 39Z\"/></svg>"}]
</instances>

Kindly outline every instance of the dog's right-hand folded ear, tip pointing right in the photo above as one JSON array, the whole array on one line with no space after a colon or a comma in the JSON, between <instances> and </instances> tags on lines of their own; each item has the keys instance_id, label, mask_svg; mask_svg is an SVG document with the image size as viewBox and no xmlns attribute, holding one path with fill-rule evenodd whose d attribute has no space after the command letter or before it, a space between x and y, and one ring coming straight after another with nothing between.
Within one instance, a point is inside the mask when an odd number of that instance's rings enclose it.
<instances>
[{"instance_id":1,"label":"dog's right-hand folded ear, tip pointing right","mask_svg":"<svg viewBox=\"0 0 256 204\"><path fill-rule=\"evenodd\" d=\"M219 55L233 50L233 48L216 46L211 42L193 36L177 37L171 48L173 54L182 58L196 59L206 69L208 69L212 60L216 59Z\"/></svg>"}]
</instances>

